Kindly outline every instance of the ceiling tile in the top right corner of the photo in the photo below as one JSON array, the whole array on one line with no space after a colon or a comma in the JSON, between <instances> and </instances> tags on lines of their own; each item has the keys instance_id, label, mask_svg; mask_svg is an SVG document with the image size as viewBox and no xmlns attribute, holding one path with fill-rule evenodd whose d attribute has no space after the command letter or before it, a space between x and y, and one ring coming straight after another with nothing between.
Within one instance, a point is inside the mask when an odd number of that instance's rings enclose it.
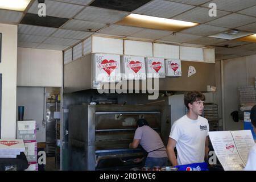
<instances>
[{"instance_id":1,"label":"ceiling tile in the top right corner of the photo","mask_svg":"<svg viewBox=\"0 0 256 182\"><path fill-rule=\"evenodd\" d=\"M202 6L208 7L209 3L216 3L218 10L236 12L247 7L256 5L255 0L213 0Z\"/></svg>"}]
</instances>

